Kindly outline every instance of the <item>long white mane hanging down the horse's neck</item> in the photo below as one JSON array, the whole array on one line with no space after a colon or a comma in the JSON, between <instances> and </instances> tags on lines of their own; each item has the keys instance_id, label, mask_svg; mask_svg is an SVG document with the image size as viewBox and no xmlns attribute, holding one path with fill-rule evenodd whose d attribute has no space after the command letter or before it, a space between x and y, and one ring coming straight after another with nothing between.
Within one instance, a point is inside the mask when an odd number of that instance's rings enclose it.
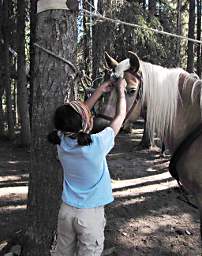
<instances>
[{"instance_id":1,"label":"long white mane hanging down the horse's neck","mask_svg":"<svg viewBox=\"0 0 202 256\"><path fill-rule=\"evenodd\" d=\"M147 104L147 128L150 138L154 133L163 140L174 125L179 90L179 76L185 72L180 68L163 68L140 62L143 76L143 103Z\"/></svg>"}]
</instances>

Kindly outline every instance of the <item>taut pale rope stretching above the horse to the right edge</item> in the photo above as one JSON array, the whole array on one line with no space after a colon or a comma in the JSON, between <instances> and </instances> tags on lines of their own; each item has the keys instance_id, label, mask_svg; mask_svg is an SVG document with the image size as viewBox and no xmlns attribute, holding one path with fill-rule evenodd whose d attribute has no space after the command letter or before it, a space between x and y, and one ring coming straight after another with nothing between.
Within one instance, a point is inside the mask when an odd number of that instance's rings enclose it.
<instances>
[{"instance_id":1,"label":"taut pale rope stretching above the horse to the right edge","mask_svg":"<svg viewBox=\"0 0 202 256\"><path fill-rule=\"evenodd\" d=\"M191 41L193 43L202 44L202 41L200 41L200 40L196 40L196 39L185 37L185 36L180 36L180 35L177 35L177 34L172 34L172 33L165 32L165 31L160 31L160 30L154 29L154 28L147 28L145 26L140 26L140 25L137 25L137 24L125 22L125 21L122 21L122 20L119 20L119 19L112 19L112 18L109 18L109 17L105 17L105 16L103 16L101 14L91 13L91 12L89 12L86 9L83 9L83 12L87 16L93 16L93 17L99 18L101 20L110 21L110 22L115 23L117 25L122 24L122 25L126 25L126 26L129 26L129 27L133 27L133 28L146 29L146 30L153 31L154 33L158 33L158 34L162 34L162 35L167 35L167 36L172 36L172 37L177 37L177 38L180 38L180 39L183 39L183 40Z\"/></svg>"}]
</instances>

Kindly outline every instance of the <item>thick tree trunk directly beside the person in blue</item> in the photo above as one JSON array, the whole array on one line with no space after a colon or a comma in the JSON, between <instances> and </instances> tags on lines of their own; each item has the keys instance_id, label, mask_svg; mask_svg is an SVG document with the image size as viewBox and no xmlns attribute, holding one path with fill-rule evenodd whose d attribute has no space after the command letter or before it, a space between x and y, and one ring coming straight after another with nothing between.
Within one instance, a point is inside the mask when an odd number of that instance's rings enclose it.
<instances>
[{"instance_id":1,"label":"thick tree trunk directly beside the person in blue","mask_svg":"<svg viewBox=\"0 0 202 256\"><path fill-rule=\"evenodd\" d=\"M76 2L76 0L75 0ZM39 2L38 2L39 3ZM76 63L77 12L46 10L38 14L36 43ZM28 226L23 256L50 255L61 196L61 172L56 147L47 141L53 113L77 87L69 65L35 48L31 172L28 193Z\"/></svg>"}]
</instances>

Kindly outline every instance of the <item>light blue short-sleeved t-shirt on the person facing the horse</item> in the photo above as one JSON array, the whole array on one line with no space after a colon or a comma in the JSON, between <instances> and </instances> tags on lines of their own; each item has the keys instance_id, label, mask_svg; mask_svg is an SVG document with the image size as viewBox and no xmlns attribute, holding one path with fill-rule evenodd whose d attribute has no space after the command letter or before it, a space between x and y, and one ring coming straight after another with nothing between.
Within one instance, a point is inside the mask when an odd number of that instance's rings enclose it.
<instances>
[{"instance_id":1,"label":"light blue short-sleeved t-shirt on the person facing the horse","mask_svg":"<svg viewBox=\"0 0 202 256\"><path fill-rule=\"evenodd\" d=\"M92 134L89 146L79 146L76 139L61 136L57 149L64 171L64 203L94 208L113 201L106 155L114 146L114 137L111 127Z\"/></svg>"}]
</instances>

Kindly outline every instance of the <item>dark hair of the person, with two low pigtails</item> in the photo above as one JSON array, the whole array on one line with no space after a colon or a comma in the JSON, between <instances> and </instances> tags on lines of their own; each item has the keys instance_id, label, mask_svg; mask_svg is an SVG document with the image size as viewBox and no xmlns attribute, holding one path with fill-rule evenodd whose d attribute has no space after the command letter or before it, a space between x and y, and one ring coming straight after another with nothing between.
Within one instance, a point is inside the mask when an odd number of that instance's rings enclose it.
<instances>
[{"instance_id":1,"label":"dark hair of the person, with two low pigtails","mask_svg":"<svg viewBox=\"0 0 202 256\"><path fill-rule=\"evenodd\" d=\"M58 131L64 133L78 133L77 141L81 146L90 145L92 143L90 134L79 132L82 129L82 119L81 116L71 106L62 105L58 107L53 117L53 123L56 130L48 134L48 141L50 143L54 145L60 144Z\"/></svg>"}]
</instances>

